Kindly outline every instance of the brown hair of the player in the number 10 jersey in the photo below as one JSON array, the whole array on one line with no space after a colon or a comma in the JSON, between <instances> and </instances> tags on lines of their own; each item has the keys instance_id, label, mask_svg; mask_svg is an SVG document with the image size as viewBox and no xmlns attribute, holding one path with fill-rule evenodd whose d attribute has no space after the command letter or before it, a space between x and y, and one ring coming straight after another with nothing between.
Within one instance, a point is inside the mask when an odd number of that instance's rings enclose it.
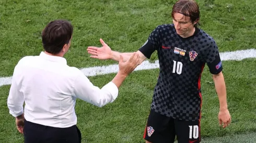
<instances>
[{"instance_id":1,"label":"brown hair of the player in the number 10 jersey","mask_svg":"<svg viewBox=\"0 0 256 143\"><path fill-rule=\"evenodd\" d=\"M177 1L173 7L171 12L171 17L173 17L174 13L180 13L184 16L190 17L192 23L197 20L197 23L194 25L197 27L197 24L200 24L198 21L200 19L200 10L198 4L194 0L180 0Z\"/></svg>"}]
</instances>

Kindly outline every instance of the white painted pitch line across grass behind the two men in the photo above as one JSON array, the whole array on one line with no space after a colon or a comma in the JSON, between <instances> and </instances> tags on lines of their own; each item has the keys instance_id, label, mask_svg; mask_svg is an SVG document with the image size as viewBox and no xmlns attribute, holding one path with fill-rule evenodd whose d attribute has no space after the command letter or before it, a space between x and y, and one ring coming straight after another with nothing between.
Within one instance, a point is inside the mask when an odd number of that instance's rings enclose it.
<instances>
[{"instance_id":1,"label":"white painted pitch line across grass behind the two men","mask_svg":"<svg viewBox=\"0 0 256 143\"><path fill-rule=\"evenodd\" d=\"M256 49L237 50L220 53L220 59L225 60L242 60L246 58L256 58ZM149 70L159 68L159 61L156 60L154 63L144 61L134 71ZM109 66L102 67L90 67L80 69L86 76L96 76L109 73L117 73L119 70L118 64L111 64ZM3 85L10 85L11 77L0 77L0 87Z\"/></svg>"}]
</instances>

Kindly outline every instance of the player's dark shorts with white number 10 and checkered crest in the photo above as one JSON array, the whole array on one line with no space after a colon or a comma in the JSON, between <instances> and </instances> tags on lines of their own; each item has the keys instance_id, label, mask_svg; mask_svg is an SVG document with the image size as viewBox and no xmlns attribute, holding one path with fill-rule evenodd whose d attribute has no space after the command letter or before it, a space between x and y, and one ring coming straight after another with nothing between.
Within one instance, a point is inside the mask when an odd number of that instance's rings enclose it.
<instances>
[{"instance_id":1,"label":"player's dark shorts with white number 10 and checkered crest","mask_svg":"<svg viewBox=\"0 0 256 143\"><path fill-rule=\"evenodd\" d=\"M200 120L172 119L151 110L143 138L153 143L171 143L177 137L179 143L197 143L201 141L200 130Z\"/></svg>"}]
</instances>

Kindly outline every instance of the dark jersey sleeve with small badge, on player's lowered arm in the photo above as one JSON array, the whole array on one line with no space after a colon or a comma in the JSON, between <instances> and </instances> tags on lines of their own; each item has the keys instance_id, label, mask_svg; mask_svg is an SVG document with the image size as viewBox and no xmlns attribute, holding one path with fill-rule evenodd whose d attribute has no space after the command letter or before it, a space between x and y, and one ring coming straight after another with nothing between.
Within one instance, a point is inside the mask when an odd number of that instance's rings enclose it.
<instances>
[{"instance_id":1,"label":"dark jersey sleeve with small badge, on player's lowered arm","mask_svg":"<svg viewBox=\"0 0 256 143\"><path fill-rule=\"evenodd\" d=\"M213 41L210 47L204 52L204 58L212 74L218 74L223 70L222 60L220 59L218 46Z\"/></svg>"}]
</instances>

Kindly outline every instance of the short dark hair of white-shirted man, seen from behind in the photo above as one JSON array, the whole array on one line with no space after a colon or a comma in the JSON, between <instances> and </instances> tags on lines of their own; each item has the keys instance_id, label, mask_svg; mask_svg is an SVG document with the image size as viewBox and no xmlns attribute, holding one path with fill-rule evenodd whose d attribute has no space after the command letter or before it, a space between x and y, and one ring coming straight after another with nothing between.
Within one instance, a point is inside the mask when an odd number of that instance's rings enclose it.
<instances>
[{"instance_id":1,"label":"short dark hair of white-shirted man, seen from behind","mask_svg":"<svg viewBox=\"0 0 256 143\"><path fill-rule=\"evenodd\" d=\"M73 26L66 20L54 20L46 25L42 32L43 48L53 55L59 54L68 44L73 34Z\"/></svg>"}]
</instances>

